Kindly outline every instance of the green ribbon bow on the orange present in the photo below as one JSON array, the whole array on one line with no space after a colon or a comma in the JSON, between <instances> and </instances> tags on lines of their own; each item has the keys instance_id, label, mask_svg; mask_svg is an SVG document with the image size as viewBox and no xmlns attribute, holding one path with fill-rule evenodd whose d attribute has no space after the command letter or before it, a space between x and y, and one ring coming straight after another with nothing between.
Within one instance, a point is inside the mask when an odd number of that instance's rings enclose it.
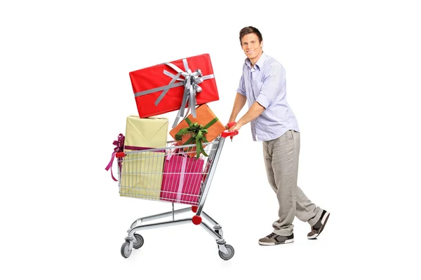
<instances>
[{"instance_id":1,"label":"green ribbon bow on the orange present","mask_svg":"<svg viewBox=\"0 0 421 280\"><path fill-rule=\"evenodd\" d=\"M198 123L192 123L192 120L189 120L189 118L185 118L185 121L189 127L179 130L178 133L175 134L175 140L180 141L183 135L192 134L192 137L190 137L190 139L187 140L183 145L189 145L193 142L196 142L196 158L199 158L200 153L203 153L203 155L208 157L208 155L205 153L205 150L203 149L203 143L208 143L208 139L206 139L205 134L208 133L208 128L210 126L218 122L218 118L210 120L210 122L205 126L199 125Z\"/></svg>"}]
</instances>

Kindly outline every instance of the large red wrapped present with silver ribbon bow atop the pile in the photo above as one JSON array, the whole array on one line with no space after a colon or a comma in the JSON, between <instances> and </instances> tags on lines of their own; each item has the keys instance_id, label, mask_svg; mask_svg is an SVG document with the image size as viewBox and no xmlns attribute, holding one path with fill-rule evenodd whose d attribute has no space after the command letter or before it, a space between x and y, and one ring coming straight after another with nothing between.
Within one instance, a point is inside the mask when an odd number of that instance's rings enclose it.
<instances>
[{"instance_id":1,"label":"large red wrapped present with silver ribbon bow atop the pile","mask_svg":"<svg viewBox=\"0 0 421 280\"><path fill-rule=\"evenodd\" d=\"M132 71L129 76L140 118L178 110L173 127L187 106L196 118L196 105L219 100L208 54Z\"/></svg>"}]
</instances>

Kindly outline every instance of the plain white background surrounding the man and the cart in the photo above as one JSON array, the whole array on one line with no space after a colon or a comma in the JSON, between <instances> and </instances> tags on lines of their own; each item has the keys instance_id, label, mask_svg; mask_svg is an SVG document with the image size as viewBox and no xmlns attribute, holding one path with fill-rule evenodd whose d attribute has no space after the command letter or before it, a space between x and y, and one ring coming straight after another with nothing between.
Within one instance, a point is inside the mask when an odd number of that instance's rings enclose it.
<instances>
[{"instance_id":1,"label":"plain white background surrounding the man and the cart","mask_svg":"<svg viewBox=\"0 0 421 280\"><path fill-rule=\"evenodd\" d=\"M276 4L275 4L276 2ZM373 279L420 276L420 8L416 1L4 1L0 5L1 279ZM171 204L119 197L105 172L136 114L128 72L209 53L226 123L258 27L286 68L299 186L331 212L307 240L259 246L277 202L249 125L227 142L203 228L128 226ZM245 113L242 111L241 114ZM170 118L174 115L168 114ZM114 165L114 171L116 172ZM418 278L419 279L419 278Z\"/></svg>"}]
</instances>

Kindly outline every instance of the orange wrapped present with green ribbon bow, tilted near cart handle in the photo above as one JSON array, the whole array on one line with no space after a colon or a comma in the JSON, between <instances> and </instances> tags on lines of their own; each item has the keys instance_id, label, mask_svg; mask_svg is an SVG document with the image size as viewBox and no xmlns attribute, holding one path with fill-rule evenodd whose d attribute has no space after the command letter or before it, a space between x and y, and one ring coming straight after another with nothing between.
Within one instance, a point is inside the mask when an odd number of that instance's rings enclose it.
<instances>
[{"instance_id":1,"label":"orange wrapped present with green ribbon bow, tilted near cart handle","mask_svg":"<svg viewBox=\"0 0 421 280\"><path fill-rule=\"evenodd\" d=\"M203 149L203 143L213 141L225 130L225 126L208 105L202 104L197 107L196 113L197 118L190 114L170 131L171 137L178 145L196 144L195 147L188 148L187 154L191 158L199 158L200 154L208 156ZM185 149L187 151L187 148Z\"/></svg>"}]
</instances>

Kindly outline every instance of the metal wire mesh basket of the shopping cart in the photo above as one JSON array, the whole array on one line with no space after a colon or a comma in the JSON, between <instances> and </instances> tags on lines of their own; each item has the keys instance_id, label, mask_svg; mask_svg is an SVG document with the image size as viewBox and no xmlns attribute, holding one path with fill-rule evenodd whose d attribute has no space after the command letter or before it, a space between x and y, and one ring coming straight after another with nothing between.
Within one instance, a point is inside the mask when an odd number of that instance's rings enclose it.
<instances>
[{"instance_id":1,"label":"metal wire mesh basket of the shopping cart","mask_svg":"<svg viewBox=\"0 0 421 280\"><path fill-rule=\"evenodd\" d=\"M208 172L219 145L219 137L203 144L208 155L196 158L196 145L125 151L118 158L119 193L123 197L198 205Z\"/></svg>"}]
</instances>

